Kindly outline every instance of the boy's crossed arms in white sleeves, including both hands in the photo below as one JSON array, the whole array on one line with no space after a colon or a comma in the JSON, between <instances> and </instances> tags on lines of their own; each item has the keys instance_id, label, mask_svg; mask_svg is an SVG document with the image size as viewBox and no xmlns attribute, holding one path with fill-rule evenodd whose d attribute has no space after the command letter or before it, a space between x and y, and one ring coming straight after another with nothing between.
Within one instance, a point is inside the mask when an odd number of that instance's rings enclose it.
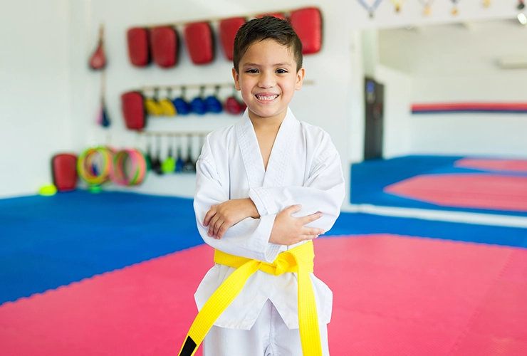
<instances>
[{"instance_id":1,"label":"boy's crossed arms in white sleeves, including both hands","mask_svg":"<svg viewBox=\"0 0 527 356\"><path fill-rule=\"evenodd\" d=\"M256 187L229 199L207 142L197 162L194 210L210 246L236 256L272 262L282 245L315 239L340 214L344 179L336 150L319 155L303 187Z\"/></svg>"}]
</instances>

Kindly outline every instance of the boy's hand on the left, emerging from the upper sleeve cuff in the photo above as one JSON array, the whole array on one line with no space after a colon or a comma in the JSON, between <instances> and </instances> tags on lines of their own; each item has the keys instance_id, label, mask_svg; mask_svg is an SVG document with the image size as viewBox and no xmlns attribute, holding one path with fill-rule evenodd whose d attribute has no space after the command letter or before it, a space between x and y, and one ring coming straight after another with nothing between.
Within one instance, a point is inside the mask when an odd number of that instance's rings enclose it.
<instances>
[{"instance_id":1,"label":"boy's hand on the left, emerging from the upper sleeve cuff","mask_svg":"<svg viewBox=\"0 0 527 356\"><path fill-rule=\"evenodd\" d=\"M250 198L231 199L212 206L205 215L203 225L209 226L209 236L221 239L229 227L249 217L260 217L254 202Z\"/></svg>"}]
</instances>

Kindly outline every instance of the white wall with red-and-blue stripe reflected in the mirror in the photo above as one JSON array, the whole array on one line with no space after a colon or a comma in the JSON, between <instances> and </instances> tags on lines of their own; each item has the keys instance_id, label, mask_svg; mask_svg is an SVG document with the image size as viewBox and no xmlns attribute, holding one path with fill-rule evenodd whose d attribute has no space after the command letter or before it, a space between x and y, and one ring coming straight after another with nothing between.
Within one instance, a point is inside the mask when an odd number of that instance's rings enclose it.
<instances>
[{"instance_id":1,"label":"white wall with red-and-blue stripe reflected in the mirror","mask_svg":"<svg viewBox=\"0 0 527 356\"><path fill-rule=\"evenodd\" d=\"M503 70L502 56L524 56L527 28L516 19L380 31L381 61L412 78L411 103L522 102L527 69ZM411 115L410 151L433 155L527 157L527 115Z\"/></svg>"}]
</instances>

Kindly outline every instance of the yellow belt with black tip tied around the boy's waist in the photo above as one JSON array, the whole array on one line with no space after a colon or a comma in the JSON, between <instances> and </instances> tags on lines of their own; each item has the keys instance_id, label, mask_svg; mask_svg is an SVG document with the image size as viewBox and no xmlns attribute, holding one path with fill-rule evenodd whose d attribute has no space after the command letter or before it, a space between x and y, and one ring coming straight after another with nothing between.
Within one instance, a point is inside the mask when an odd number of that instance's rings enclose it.
<instances>
[{"instance_id":1,"label":"yellow belt with black tip tied around the boy's waist","mask_svg":"<svg viewBox=\"0 0 527 356\"><path fill-rule=\"evenodd\" d=\"M247 279L258 270L274 276L279 276L286 272L298 273L298 326L300 328L303 355L322 355L315 293L313 293L313 286L309 277L309 273L313 272L314 257L313 242L311 241L278 254L273 263L229 255L229 253L216 250L214 252L214 262L234 267L236 271L221 283L221 286L216 289L209 300L207 300L207 303L203 305L202 310L199 310L185 338L181 351L179 351L179 356L194 355L199 344L202 343L205 335L212 328L219 315L241 292Z\"/></svg>"}]
</instances>

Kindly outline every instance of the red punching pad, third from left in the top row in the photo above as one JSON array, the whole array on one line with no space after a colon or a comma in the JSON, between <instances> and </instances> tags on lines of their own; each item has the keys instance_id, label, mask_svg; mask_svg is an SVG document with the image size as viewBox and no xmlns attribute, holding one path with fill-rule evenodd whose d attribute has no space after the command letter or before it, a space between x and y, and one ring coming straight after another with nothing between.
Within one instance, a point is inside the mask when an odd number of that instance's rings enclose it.
<instances>
[{"instance_id":1,"label":"red punching pad, third from left in the top row","mask_svg":"<svg viewBox=\"0 0 527 356\"><path fill-rule=\"evenodd\" d=\"M207 64L214 60L214 38L207 22L194 22L185 26L185 42L194 64Z\"/></svg>"}]
</instances>

